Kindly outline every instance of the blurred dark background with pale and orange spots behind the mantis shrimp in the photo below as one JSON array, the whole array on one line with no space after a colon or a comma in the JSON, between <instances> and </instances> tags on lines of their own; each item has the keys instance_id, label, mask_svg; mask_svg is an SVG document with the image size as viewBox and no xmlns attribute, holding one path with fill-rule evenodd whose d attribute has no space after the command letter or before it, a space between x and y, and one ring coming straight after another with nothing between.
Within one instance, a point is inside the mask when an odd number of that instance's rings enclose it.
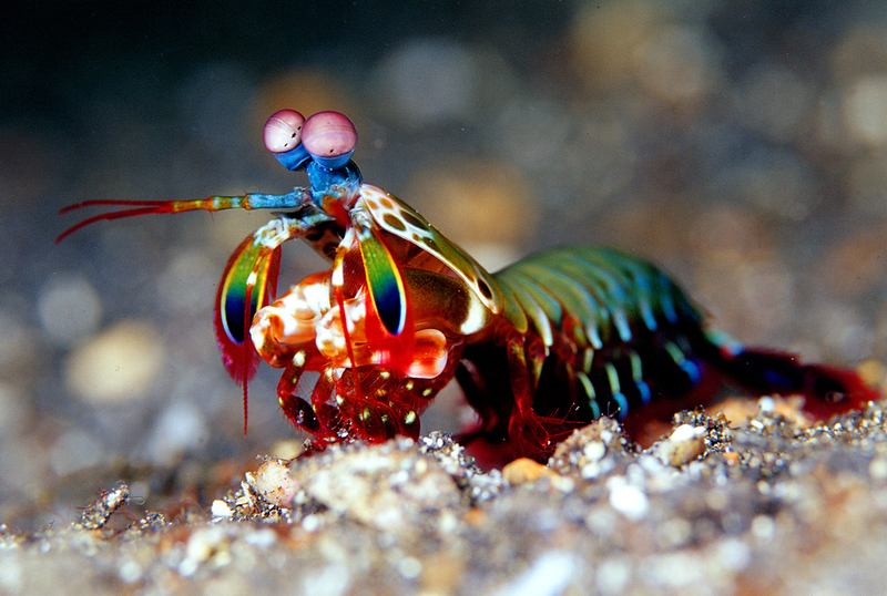
<instances>
[{"instance_id":1,"label":"blurred dark background with pale and orange spots behind the mantis shrimp","mask_svg":"<svg viewBox=\"0 0 887 596\"><path fill-rule=\"evenodd\" d=\"M59 208L85 199L305 184L262 143L282 107L349 115L365 179L490 268L614 245L743 342L885 361L883 2L211 4L6 9L0 522L67 524L119 477L205 504L241 462L300 440L268 368L243 436L212 335L226 259L268 214L99 223L53 244L95 213ZM282 288L325 268L289 244ZM457 430L462 412L436 410L424 429Z\"/></svg>"}]
</instances>

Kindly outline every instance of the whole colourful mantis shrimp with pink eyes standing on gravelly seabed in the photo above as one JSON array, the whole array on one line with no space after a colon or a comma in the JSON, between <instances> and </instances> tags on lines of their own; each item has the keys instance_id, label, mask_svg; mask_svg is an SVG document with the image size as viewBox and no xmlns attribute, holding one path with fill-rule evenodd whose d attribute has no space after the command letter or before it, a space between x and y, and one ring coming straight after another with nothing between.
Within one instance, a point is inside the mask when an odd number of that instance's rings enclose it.
<instances>
[{"instance_id":1,"label":"whole colourful mantis shrimp with pink eyes standing on gravelly seabed","mask_svg":"<svg viewBox=\"0 0 887 596\"><path fill-rule=\"evenodd\" d=\"M480 423L466 440L507 442L542 459L600 415L672 413L686 397L732 380L755 393L799 393L817 418L877 399L848 370L744 349L703 327L665 274L606 248L560 248L489 274L397 197L365 184L350 161L351 122L292 110L265 124L265 145L310 186L286 195L125 205L69 228L152 213L274 208L234 251L215 304L232 378L246 387L259 359L284 369L277 393L315 448L351 439L416 438L419 417L456 378ZM304 238L332 261L272 304L281 245ZM319 373L309 398L307 371ZM693 391L693 390L696 391ZM699 397L699 395L696 395ZM692 398L691 398L692 399Z\"/></svg>"}]
</instances>

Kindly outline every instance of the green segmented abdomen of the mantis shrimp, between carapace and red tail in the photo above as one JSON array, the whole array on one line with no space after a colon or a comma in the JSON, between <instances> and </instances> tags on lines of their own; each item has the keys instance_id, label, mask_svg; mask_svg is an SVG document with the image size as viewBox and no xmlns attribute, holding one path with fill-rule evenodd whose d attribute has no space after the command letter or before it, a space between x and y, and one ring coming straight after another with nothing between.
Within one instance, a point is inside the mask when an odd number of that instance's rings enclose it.
<instances>
[{"instance_id":1,"label":"green segmented abdomen of the mantis shrimp, between carapace and red tail","mask_svg":"<svg viewBox=\"0 0 887 596\"><path fill-rule=\"evenodd\" d=\"M475 345L467 339L469 367L459 377L489 420L512 420L514 405L523 419L549 421L549 430L550 421L624 418L655 395L681 395L699 382L696 348L711 347L702 316L652 265L610 248L559 248L493 279L501 316L493 333ZM489 337L499 339L491 345ZM526 371L526 380L516 371Z\"/></svg>"}]
</instances>

